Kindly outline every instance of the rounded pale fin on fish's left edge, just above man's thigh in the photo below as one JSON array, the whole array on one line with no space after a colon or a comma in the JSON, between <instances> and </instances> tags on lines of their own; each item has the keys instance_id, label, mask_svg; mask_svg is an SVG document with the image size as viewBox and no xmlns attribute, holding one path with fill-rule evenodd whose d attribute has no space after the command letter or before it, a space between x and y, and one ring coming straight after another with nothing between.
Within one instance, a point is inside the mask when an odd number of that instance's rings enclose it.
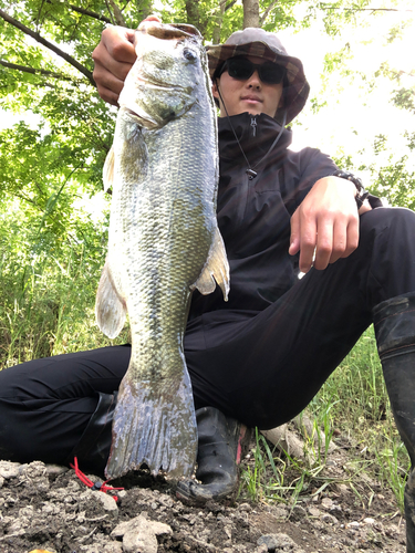
<instances>
[{"instance_id":1,"label":"rounded pale fin on fish's left edge, just above man's thigh","mask_svg":"<svg viewBox=\"0 0 415 553\"><path fill-rule=\"evenodd\" d=\"M106 260L96 292L95 316L97 325L108 338L115 338L123 330L126 312L125 302L114 286Z\"/></svg>"}]
</instances>

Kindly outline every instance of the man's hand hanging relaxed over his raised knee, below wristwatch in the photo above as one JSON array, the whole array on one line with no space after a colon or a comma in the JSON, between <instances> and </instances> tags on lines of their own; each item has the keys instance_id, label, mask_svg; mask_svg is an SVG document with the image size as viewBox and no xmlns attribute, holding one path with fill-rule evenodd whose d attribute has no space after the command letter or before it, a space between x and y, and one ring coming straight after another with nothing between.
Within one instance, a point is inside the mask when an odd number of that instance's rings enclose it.
<instances>
[{"instance_id":1,"label":"man's hand hanging relaxed over his raised knee, below wristwatch","mask_svg":"<svg viewBox=\"0 0 415 553\"><path fill-rule=\"evenodd\" d=\"M322 270L359 246L359 213L353 182L324 177L315 182L291 217L289 253L300 251L300 271ZM360 213L372 208L367 201ZM314 258L315 250L315 259Z\"/></svg>"}]
</instances>

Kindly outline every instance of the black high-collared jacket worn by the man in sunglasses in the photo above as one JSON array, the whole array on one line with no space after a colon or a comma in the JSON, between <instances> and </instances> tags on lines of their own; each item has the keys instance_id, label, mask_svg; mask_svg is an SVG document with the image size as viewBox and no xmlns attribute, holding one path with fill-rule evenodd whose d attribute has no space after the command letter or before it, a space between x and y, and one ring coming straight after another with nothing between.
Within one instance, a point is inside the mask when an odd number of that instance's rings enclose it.
<instances>
[{"instance_id":1,"label":"black high-collared jacket worn by the man in sunglasses","mask_svg":"<svg viewBox=\"0 0 415 553\"><path fill-rule=\"evenodd\" d=\"M319 149L289 150L290 129L283 131L277 146L256 167L280 125L264 114L242 113L230 121L258 176L249 180L229 119L220 117L217 216L230 265L229 301L224 301L218 286L207 296L196 291L189 321L217 310L262 311L292 286L298 255L288 253L290 218L314 182L336 169Z\"/></svg>"}]
</instances>

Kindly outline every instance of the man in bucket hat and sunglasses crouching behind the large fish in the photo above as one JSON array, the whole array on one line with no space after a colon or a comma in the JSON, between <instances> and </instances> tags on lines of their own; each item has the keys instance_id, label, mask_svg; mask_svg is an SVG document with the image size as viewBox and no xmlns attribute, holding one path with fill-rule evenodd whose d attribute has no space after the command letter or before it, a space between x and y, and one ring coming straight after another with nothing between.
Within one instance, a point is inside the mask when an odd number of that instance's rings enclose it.
<instances>
[{"instance_id":1,"label":"man in bucket hat and sunglasses crouching behind the large fish","mask_svg":"<svg viewBox=\"0 0 415 553\"><path fill-rule=\"evenodd\" d=\"M98 92L114 105L135 60L133 35L108 28L93 54ZM185 354L201 483L180 482L177 494L204 501L234 491L247 427L272 428L300 413L372 322L414 463L415 215L381 208L319 150L288 149L284 126L309 86L300 60L274 34L239 31L208 55L220 107L217 215L231 292L227 303L219 292L193 298ZM81 467L102 470L113 390L128 358L128 346L115 346L0 373L0 416L10 421L0 429L0 457L68 463L77 456ZM413 486L411 476L411 553Z\"/></svg>"}]
</instances>

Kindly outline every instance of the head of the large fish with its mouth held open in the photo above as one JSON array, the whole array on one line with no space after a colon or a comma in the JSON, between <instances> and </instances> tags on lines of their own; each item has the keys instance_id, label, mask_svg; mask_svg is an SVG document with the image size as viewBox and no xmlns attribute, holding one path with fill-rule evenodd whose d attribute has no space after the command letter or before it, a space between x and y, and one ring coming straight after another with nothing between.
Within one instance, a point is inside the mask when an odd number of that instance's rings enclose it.
<instances>
[{"instance_id":1,"label":"head of the large fish with its mouth held open","mask_svg":"<svg viewBox=\"0 0 415 553\"><path fill-rule=\"evenodd\" d=\"M136 123L160 128L199 102L206 80L201 35L191 25L144 21L135 35L137 60L118 104Z\"/></svg>"}]
</instances>

